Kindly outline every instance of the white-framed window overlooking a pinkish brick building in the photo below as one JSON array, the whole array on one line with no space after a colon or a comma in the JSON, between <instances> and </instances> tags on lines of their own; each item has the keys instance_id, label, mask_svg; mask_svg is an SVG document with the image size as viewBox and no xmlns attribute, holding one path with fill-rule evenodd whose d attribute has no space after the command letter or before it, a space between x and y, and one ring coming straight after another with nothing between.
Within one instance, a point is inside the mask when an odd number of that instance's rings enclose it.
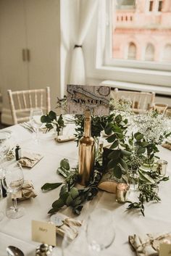
<instances>
[{"instance_id":1,"label":"white-framed window overlooking a pinkish brick building","mask_svg":"<svg viewBox=\"0 0 171 256\"><path fill-rule=\"evenodd\" d=\"M92 62L92 51L86 64L88 78L171 86L171 60L164 54L170 51L164 42L171 45L171 1L163 1L160 15L158 0L150 15L149 0L99 2L99 26L93 48L96 59Z\"/></svg>"}]
</instances>

